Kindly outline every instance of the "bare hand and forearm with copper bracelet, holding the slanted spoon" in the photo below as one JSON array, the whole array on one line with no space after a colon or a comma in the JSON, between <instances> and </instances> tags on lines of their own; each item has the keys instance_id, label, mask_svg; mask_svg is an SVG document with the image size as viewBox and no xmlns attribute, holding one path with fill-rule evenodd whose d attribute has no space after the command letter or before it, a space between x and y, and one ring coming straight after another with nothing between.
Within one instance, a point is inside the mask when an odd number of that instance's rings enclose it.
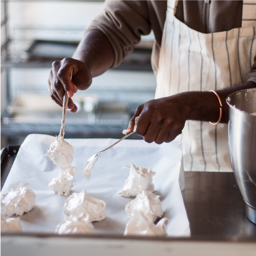
<instances>
[{"instance_id":1,"label":"bare hand and forearm with copper bracelet, holding the slanted spoon","mask_svg":"<svg viewBox=\"0 0 256 256\"><path fill-rule=\"evenodd\" d=\"M217 91L222 102L220 122L228 123L229 107L226 97L232 92L254 87L255 82L249 81ZM135 118L138 116L136 133L143 136L148 143L154 141L161 144L171 142L178 134L181 134L186 120L217 122L220 116L220 103L213 92L183 92L151 100L137 107L130 120L129 130L134 129Z\"/></svg>"}]
</instances>

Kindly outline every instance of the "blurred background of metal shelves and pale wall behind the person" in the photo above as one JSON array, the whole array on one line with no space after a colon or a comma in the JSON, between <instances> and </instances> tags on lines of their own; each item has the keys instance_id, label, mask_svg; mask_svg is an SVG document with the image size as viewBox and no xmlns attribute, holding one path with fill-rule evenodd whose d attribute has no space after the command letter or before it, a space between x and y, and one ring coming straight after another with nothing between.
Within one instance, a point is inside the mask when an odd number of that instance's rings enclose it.
<instances>
[{"instance_id":1,"label":"blurred background of metal shelves and pale wall behind the person","mask_svg":"<svg viewBox=\"0 0 256 256\"><path fill-rule=\"evenodd\" d=\"M49 70L72 56L102 7L103 1L1 0L1 149L31 133L59 134L62 108L49 97ZM136 107L154 98L153 42L153 33L143 36L121 65L75 94L78 112L67 113L66 138L123 136Z\"/></svg>"}]
</instances>

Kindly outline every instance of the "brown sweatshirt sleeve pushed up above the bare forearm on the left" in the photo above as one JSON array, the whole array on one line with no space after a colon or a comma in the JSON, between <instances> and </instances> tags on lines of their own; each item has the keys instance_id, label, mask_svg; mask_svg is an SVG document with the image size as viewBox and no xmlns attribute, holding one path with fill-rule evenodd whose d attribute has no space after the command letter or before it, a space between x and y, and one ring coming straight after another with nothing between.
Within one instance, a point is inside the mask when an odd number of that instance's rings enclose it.
<instances>
[{"instance_id":1,"label":"brown sweatshirt sleeve pushed up above the bare forearm on the left","mask_svg":"<svg viewBox=\"0 0 256 256\"><path fill-rule=\"evenodd\" d=\"M100 30L110 41L114 52L111 68L119 65L140 42L141 35L151 31L147 1L106 0L103 10L86 32L94 29Z\"/></svg>"}]
</instances>

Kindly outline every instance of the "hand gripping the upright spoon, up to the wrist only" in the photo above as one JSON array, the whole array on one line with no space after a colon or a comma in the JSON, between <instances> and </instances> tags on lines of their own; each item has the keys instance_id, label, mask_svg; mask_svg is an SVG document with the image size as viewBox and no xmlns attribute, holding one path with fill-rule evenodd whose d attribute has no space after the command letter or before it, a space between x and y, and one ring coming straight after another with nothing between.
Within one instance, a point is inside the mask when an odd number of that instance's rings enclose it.
<instances>
[{"instance_id":1,"label":"hand gripping the upright spoon, up to the wrist only","mask_svg":"<svg viewBox=\"0 0 256 256\"><path fill-rule=\"evenodd\" d=\"M72 82L70 80L73 69ZM87 66L80 60L65 58L53 62L48 79L48 90L50 97L61 107L63 96L68 93L68 109L71 112L77 111L77 106L72 101L74 93L78 90L87 89L92 82L92 77Z\"/></svg>"}]
</instances>

